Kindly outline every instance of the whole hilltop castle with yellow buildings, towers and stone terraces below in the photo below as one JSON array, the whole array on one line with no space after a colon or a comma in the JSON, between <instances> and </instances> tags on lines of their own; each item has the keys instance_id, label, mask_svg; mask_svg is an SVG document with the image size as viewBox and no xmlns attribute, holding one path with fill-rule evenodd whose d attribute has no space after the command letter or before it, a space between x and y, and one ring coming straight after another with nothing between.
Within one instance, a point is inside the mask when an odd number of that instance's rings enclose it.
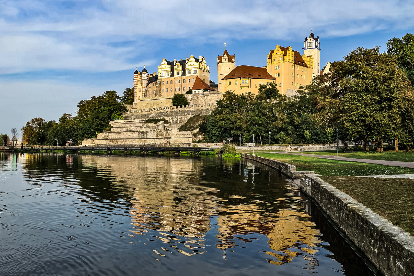
<instances>
[{"instance_id":1,"label":"whole hilltop castle with yellow buildings, towers and stone terraces below","mask_svg":"<svg viewBox=\"0 0 414 276\"><path fill-rule=\"evenodd\" d=\"M82 144L186 144L193 143L197 134L180 132L178 128L193 115L209 115L228 90L236 94L258 94L259 86L275 82L282 94L293 96L296 90L310 84L318 74L327 73L330 63L320 71L319 36L311 32L303 42L303 55L291 46L277 45L267 54L267 65L236 66L236 56L225 49L217 56L217 86L210 86L210 67L204 56L190 55L185 60L168 61L165 58L157 72L135 70L133 76L134 101L123 113L122 121L110 122L111 130L97 134L96 139ZM184 94L188 104L173 106L172 97ZM146 120L159 118L168 123L147 124Z\"/></svg>"}]
</instances>

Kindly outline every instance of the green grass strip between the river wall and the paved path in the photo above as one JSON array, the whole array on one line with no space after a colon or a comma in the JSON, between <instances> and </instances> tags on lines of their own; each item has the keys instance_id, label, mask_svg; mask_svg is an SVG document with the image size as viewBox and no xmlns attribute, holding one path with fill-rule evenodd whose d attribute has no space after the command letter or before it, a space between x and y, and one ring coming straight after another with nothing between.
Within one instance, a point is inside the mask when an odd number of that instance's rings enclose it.
<instances>
[{"instance_id":1,"label":"green grass strip between the river wall and the paved path","mask_svg":"<svg viewBox=\"0 0 414 276\"><path fill-rule=\"evenodd\" d=\"M251 153L251 152L250 152ZM392 175L414 173L412 168L402 168L351 161L338 161L293 154L255 152L255 155L276 159L296 166L296 170L313 170L320 175Z\"/></svg>"}]
</instances>

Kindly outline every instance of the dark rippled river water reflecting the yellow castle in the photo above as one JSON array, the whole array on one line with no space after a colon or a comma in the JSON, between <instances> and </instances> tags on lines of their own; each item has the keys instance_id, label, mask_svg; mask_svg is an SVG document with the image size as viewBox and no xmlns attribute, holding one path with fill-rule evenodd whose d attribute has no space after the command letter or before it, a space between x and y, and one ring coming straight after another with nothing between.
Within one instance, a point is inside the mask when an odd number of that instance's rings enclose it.
<instances>
[{"instance_id":1,"label":"dark rippled river water reflecting the yellow castle","mask_svg":"<svg viewBox=\"0 0 414 276\"><path fill-rule=\"evenodd\" d=\"M372 275L262 164L0 153L0 275L315 273Z\"/></svg>"}]
</instances>

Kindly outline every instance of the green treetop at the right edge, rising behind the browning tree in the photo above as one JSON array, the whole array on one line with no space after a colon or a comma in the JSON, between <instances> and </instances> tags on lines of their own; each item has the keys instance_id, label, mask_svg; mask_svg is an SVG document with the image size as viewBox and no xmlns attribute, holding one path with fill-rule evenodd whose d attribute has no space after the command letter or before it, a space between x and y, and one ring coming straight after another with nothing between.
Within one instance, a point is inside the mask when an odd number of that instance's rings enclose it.
<instances>
[{"instance_id":1,"label":"green treetop at the right edge, rising behind the browning tree","mask_svg":"<svg viewBox=\"0 0 414 276\"><path fill-rule=\"evenodd\" d=\"M387 53L396 56L399 67L414 86L414 34L388 40Z\"/></svg>"}]
</instances>

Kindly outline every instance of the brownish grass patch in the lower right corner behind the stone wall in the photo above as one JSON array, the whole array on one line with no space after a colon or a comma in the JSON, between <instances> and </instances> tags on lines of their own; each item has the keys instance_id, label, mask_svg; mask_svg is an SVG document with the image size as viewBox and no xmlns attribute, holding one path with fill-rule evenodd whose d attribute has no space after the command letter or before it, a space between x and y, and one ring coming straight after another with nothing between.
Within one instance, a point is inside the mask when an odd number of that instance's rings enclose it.
<instances>
[{"instance_id":1,"label":"brownish grass patch in the lower right corner behind the stone wall","mask_svg":"<svg viewBox=\"0 0 414 276\"><path fill-rule=\"evenodd\" d=\"M321 178L414 235L413 179L352 176L344 178L322 176Z\"/></svg>"}]
</instances>

